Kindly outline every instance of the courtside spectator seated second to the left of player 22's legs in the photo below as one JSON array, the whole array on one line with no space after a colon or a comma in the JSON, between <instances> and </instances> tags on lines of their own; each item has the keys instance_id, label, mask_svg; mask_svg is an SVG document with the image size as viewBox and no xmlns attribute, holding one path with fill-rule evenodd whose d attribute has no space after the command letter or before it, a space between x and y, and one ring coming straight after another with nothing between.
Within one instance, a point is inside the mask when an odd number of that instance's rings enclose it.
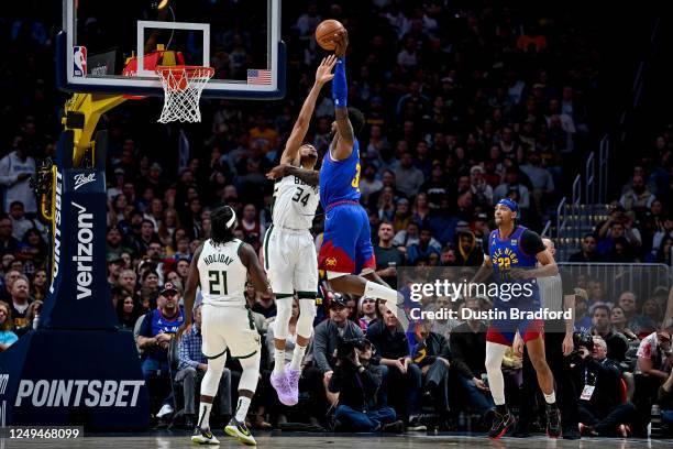
<instances>
[{"instance_id":1,"label":"courtside spectator seated second to the left of player 22's legs","mask_svg":"<svg viewBox=\"0 0 673 449\"><path fill-rule=\"evenodd\" d=\"M430 328L432 322L421 325L421 339L413 351L413 363L417 364L423 376L423 393L435 401L435 408L440 418L444 420L449 413L449 366L451 352L449 342Z\"/></svg>"}]
</instances>

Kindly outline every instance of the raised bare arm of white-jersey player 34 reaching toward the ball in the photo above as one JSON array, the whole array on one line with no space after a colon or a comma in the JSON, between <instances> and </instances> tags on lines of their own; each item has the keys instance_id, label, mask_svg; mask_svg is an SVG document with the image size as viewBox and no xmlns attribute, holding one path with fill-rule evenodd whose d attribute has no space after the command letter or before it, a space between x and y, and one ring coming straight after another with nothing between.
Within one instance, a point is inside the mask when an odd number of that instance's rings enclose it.
<instances>
[{"instance_id":1,"label":"raised bare arm of white-jersey player 34 reaching toward the ball","mask_svg":"<svg viewBox=\"0 0 673 449\"><path fill-rule=\"evenodd\" d=\"M313 83L311 91L309 92L308 97L306 97L306 100L304 100L304 106L301 106L301 111L299 112L299 117L295 122L295 128L293 128L293 132L285 143L285 150L280 156L280 164L291 164L295 161L295 157L297 157L297 153L301 147L301 142L304 141L309 123L311 122L311 117L313 116L313 109L316 108L316 101L318 100L320 89L322 89L322 86L324 86L326 83L334 78L332 68L334 68L335 64L336 56L330 55L323 58L322 63L320 63L318 66L318 69L316 70L316 83Z\"/></svg>"}]
</instances>

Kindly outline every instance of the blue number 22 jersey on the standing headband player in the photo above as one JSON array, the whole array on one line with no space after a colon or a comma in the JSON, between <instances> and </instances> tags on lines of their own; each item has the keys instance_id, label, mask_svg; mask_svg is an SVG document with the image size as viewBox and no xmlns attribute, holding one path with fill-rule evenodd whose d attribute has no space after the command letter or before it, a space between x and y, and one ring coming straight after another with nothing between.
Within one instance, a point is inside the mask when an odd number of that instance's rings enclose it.
<instances>
[{"instance_id":1,"label":"blue number 22 jersey on the standing headband player","mask_svg":"<svg viewBox=\"0 0 673 449\"><path fill-rule=\"evenodd\" d=\"M521 237L526 228L518 226L511 236L503 239L498 229L490 232L488 237L488 255L493 263L494 275L496 283L501 287L505 284L509 286L514 284L530 283L533 284L532 295L525 296L522 294L511 295L504 294L505 289L500 291L500 295L496 298L496 303L510 307L534 307L539 303L539 291L534 280L512 280L509 276L511 269L533 269L538 262L536 254L526 254L521 249Z\"/></svg>"}]
</instances>

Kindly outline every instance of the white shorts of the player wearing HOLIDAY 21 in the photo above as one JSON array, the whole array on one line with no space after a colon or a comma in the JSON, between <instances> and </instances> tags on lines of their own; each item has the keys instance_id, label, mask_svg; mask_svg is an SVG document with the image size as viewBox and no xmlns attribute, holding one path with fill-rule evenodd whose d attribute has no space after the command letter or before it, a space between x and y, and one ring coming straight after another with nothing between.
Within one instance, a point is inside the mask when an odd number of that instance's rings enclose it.
<instances>
[{"instance_id":1,"label":"white shorts of the player wearing HOLIDAY 21","mask_svg":"<svg viewBox=\"0 0 673 449\"><path fill-rule=\"evenodd\" d=\"M201 308L201 352L208 359L217 359L228 348L236 359L246 359L260 351L261 339L252 313L242 305L205 304Z\"/></svg>"}]
</instances>

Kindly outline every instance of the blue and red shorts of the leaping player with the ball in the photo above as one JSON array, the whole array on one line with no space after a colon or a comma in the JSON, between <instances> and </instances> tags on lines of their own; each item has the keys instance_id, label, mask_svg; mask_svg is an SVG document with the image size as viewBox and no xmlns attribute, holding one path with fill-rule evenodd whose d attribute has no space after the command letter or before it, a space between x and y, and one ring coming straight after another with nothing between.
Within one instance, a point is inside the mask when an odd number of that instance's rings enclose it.
<instances>
[{"instance_id":1,"label":"blue and red shorts of the leaping player with the ball","mask_svg":"<svg viewBox=\"0 0 673 449\"><path fill-rule=\"evenodd\" d=\"M360 204L349 201L328 208L318 266L354 274L376 270L369 218Z\"/></svg>"}]
</instances>

